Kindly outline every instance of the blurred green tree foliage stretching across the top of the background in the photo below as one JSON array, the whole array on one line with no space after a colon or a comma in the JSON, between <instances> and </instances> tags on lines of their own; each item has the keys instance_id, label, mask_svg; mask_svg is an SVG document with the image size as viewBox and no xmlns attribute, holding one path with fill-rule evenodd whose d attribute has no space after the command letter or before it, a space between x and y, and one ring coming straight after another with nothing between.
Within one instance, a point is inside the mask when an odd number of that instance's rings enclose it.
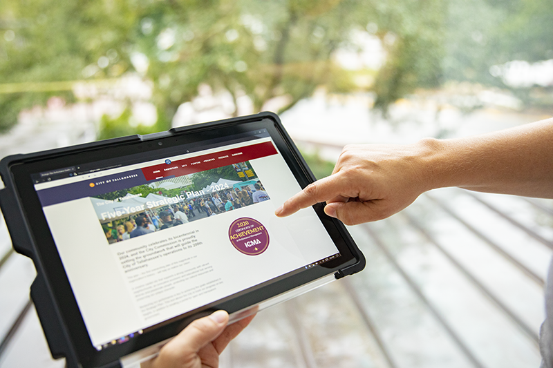
<instances>
[{"instance_id":1,"label":"blurred green tree foliage stretching across the top of the background","mask_svg":"<svg viewBox=\"0 0 553 368\"><path fill-rule=\"evenodd\" d=\"M247 95L254 112L274 97L282 110L325 86L371 88L376 106L445 81L502 86L490 66L553 58L550 0L18 0L0 2L0 88L24 82L97 80L137 72L153 83L158 122L132 128L129 110L105 117L101 137L166 130L200 84ZM369 32L386 50L372 86L336 64ZM1 93L0 130L20 110L71 90ZM234 110L236 115L236 109Z\"/></svg>"}]
</instances>

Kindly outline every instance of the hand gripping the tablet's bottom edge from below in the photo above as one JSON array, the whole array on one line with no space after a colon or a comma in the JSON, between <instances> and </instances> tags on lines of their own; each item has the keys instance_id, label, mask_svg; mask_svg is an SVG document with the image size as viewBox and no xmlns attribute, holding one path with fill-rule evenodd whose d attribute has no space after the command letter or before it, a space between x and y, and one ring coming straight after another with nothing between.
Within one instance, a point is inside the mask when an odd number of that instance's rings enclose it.
<instances>
[{"instance_id":1,"label":"hand gripping the tablet's bottom edge from below","mask_svg":"<svg viewBox=\"0 0 553 368\"><path fill-rule=\"evenodd\" d=\"M140 367L216 368L223 349L253 318L254 316L250 316L227 326L228 313L216 311L210 316L195 320L167 342L156 358L143 362Z\"/></svg>"}]
</instances>

